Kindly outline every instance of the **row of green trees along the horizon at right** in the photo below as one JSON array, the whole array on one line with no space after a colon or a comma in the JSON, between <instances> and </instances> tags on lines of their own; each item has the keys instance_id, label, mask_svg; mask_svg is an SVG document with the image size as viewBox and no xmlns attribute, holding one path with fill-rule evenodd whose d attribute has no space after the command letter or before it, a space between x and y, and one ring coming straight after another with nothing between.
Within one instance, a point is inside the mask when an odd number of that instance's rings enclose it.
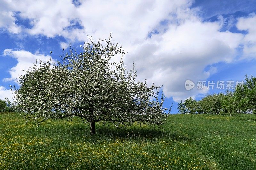
<instances>
[{"instance_id":1,"label":"row of green trees along the horizon at right","mask_svg":"<svg viewBox=\"0 0 256 170\"><path fill-rule=\"evenodd\" d=\"M226 94L208 94L199 101L192 97L181 100L178 109L182 114L256 113L256 78L246 75L243 85Z\"/></svg>"}]
</instances>

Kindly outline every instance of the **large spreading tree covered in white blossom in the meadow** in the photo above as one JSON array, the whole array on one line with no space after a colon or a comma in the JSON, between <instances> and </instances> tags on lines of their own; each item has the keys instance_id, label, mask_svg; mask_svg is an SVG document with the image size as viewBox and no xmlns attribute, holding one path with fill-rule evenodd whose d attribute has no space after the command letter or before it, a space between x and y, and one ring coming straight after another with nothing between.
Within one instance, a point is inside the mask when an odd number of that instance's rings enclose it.
<instances>
[{"instance_id":1,"label":"large spreading tree covered in white blossom in the meadow","mask_svg":"<svg viewBox=\"0 0 256 170\"><path fill-rule=\"evenodd\" d=\"M90 123L109 122L116 127L140 124L162 125L167 115L160 87L136 81L136 71L126 72L122 46L103 40L85 43L83 53L70 50L62 62L40 62L20 76L20 88L14 91L22 116L38 123L47 119L82 117ZM111 62L121 55L120 63Z\"/></svg>"}]
</instances>

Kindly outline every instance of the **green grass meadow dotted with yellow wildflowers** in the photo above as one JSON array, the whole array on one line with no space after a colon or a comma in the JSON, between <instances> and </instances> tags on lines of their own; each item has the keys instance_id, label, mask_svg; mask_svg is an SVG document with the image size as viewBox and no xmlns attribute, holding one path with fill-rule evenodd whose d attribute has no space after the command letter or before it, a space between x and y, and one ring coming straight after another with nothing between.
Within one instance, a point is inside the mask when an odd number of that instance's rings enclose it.
<instances>
[{"instance_id":1,"label":"green grass meadow dotted with yellow wildflowers","mask_svg":"<svg viewBox=\"0 0 256 170\"><path fill-rule=\"evenodd\" d=\"M170 115L164 129L0 114L0 169L256 169L255 115Z\"/></svg>"}]
</instances>

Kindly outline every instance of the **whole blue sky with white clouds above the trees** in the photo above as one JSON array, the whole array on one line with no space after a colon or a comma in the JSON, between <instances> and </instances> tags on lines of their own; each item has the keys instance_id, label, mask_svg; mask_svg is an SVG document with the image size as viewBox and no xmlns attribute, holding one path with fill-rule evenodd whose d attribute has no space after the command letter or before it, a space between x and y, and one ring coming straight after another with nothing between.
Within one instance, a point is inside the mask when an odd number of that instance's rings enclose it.
<instances>
[{"instance_id":1,"label":"whole blue sky with white clouds above the trees","mask_svg":"<svg viewBox=\"0 0 256 170\"><path fill-rule=\"evenodd\" d=\"M87 36L113 40L138 80L164 85L164 107L225 89L186 90L185 81L256 75L256 1L0 1L0 98L36 59L55 60ZM118 59L118 57L117 57ZM116 59L116 60L117 60Z\"/></svg>"}]
</instances>

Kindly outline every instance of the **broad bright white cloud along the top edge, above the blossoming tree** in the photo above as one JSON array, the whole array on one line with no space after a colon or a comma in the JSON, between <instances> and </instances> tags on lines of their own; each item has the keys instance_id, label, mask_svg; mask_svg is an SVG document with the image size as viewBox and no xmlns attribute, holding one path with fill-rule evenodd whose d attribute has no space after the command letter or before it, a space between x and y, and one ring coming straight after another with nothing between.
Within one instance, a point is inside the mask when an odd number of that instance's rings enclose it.
<instances>
[{"instance_id":1,"label":"broad bright white cloud along the top edge, above the blossoming tree","mask_svg":"<svg viewBox=\"0 0 256 170\"><path fill-rule=\"evenodd\" d=\"M85 41L87 34L95 39L113 32L114 38L124 42L143 41L152 29L170 13L186 9L190 1L6 1L10 12L19 12L20 18L29 19L31 28L23 31L47 37L64 36L69 41ZM11 8L12 6L12 8ZM183 14L179 14L180 16ZM74 26L78 23L83 29ZM136 38L137 37L137 38Z\"/></svg>"}]
</instances>

